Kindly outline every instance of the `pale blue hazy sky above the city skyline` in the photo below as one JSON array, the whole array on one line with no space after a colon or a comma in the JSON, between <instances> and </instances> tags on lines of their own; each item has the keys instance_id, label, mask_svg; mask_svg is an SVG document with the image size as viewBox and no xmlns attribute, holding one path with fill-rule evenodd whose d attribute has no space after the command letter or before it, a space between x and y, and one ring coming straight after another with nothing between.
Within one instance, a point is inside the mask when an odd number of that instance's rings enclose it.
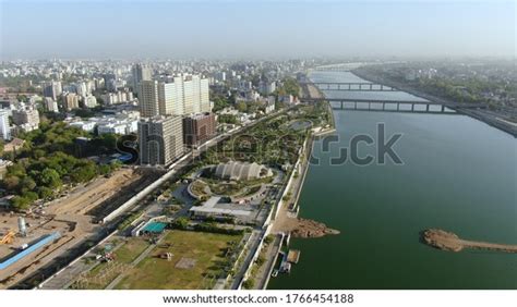
<instances>
[{"instance_id":1,"label":"pale blue hazy sky above the city skyline","mask_svg":"<svg viewBox=\"0 0 517 307\"><path fill-rule=\"evenodd\" d=\"M0 57L515 57L514 1L0 0Z\"/></svg>"}]
</instances>

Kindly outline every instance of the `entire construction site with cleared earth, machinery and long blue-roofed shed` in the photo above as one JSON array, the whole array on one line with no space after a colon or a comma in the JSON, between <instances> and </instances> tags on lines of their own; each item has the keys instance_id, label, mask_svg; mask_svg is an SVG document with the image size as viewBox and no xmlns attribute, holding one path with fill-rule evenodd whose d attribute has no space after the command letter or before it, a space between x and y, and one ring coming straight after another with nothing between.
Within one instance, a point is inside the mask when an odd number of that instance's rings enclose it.
<instances>
[{"instance_id":1,"label":"entire construction site with cleared earth, machinery and long blue-roofed shed","mask_svg":"<svg viewBox=\"0 0 517 307\"><path fill-rule=\"evenodd\" d=\"M77 246L103 236L107 214L153 183L163 171L122 168L75 186L25 213L0 211L0 288L9 288ZM61 265L61 266L62 266Z\"/></svg>"}]
</instances>

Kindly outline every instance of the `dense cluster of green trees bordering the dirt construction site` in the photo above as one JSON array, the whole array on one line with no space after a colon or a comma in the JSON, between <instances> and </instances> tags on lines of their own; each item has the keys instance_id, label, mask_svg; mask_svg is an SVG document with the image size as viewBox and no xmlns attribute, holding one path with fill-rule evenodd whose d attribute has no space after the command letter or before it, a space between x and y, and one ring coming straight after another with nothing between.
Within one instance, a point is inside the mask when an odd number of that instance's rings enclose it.
<instances>
[{"instance_id":1,"label":"dense cluster of green trees bordering the dirt construction site","mask_svg":"<svg viewBox=\"0 0 517 307\"><path fill-rule=\"evenodd\" d=\"M87 146L75 143L77 137L89 138ZM23 133L25 140L17 152L9 152L13 164L0 185L15 210L27 209L35 200L52 199L65 186L84 183L97 175L108 175L121 164L97 164L82 158L86 155L108 154L115 149L116 136L93 136L63 122L43 122L38 130ZM84 147L84 148L83 148Z\"/></svg>"}]
</instances>

